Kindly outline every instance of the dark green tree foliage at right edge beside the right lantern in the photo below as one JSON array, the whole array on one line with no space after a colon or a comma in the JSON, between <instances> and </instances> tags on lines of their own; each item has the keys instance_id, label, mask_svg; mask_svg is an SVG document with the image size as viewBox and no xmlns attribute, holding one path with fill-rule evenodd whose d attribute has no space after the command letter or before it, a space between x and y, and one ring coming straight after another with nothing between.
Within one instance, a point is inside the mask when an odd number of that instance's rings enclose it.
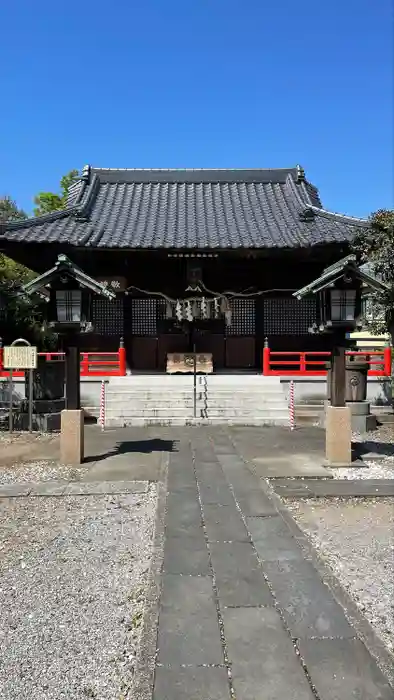
<instances>
[{"instance_id":1,"label":"dark green tree foliage at right edge beside the right lantern","mask_svg":"<svg viewBox=\"0 0 394 700\"><path fill-rule=\"evenodd\" d=\"M360 231L354 249L362 262L368 262L376 277L389 285L387 292L375 295L384 310L384 320L374 319L371 330L389 331L394 343L394 211L379 209L370 217L370 227Z\"/></svg>"}]
</instances>

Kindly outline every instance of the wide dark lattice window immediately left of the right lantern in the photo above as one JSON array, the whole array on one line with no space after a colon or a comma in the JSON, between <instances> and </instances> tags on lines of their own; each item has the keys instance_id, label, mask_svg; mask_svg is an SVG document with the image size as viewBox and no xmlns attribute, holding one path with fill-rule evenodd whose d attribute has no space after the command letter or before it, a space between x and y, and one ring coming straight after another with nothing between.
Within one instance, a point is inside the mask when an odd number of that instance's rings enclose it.
<instances>
[{"instance_id":1,"label":"wide dark lattice window immediately left of the right lantern","mask_svg":"<svg viewBox=\"0 0 394 700\"><path fill-rule=\"evenodd\" d=\"M315 322L315 299L264 299L265 335L307 335Z\"/></svg>"}]
</instances>

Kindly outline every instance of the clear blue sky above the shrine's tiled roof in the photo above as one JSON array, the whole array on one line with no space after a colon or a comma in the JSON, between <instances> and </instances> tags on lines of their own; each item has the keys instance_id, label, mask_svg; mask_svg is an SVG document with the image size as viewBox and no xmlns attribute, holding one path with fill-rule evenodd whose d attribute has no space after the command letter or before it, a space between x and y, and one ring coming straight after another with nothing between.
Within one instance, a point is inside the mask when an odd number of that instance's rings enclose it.
<instances>
[{"instance_id":1,"label":"clear blue sky above the shrine's tiled roof","mask_svg":"<svg viewBox=\"0 0 394 700\"><path fill-rule=\"evenodd\" d=\"M326 208L393 206L391 0L12 0L0 194L98 167L303 165Z\"/></svg>"}]
</instances>

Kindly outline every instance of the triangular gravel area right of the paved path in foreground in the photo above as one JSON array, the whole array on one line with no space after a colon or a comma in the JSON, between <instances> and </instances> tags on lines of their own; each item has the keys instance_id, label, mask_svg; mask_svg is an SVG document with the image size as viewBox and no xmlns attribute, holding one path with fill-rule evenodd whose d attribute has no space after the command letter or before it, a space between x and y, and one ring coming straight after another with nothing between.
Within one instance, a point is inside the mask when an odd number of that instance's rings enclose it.
<instances>
[{"instance_id":1,"label":"triangular gravel area right of the paved path in foreground","mask_svg":"<svg viewBox=\"0 0 394 700\"><path fill-rule=\"evenodd\" d=\"M394 654L394 499L286 505Z\"/></svg>"}]
</instances>

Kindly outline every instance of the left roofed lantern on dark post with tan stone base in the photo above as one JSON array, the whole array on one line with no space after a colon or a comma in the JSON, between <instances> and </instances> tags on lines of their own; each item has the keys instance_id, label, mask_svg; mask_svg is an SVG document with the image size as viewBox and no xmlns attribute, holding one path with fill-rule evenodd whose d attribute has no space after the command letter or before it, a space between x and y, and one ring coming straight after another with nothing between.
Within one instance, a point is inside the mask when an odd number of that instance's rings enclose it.
<instances>
[{"instance_id":1,"label":"left roofed lantern on dark post with tan stone base","mask_svg":"<svg viewBox=\"0 0 394 700\"><path fill-rule=\"evenodd\" d=\"M54 267L28 282L23 287L23 293L34 294L48 286L48 324L62 336L66 358L66 410L62 411L61 459L66 463L80 463L84 442L80 400L80 334L93 330L92 295L100 294L107 299L115 299L116 295L89 277L65 255L59 255Z\"/></svg>"}]
</instances>

